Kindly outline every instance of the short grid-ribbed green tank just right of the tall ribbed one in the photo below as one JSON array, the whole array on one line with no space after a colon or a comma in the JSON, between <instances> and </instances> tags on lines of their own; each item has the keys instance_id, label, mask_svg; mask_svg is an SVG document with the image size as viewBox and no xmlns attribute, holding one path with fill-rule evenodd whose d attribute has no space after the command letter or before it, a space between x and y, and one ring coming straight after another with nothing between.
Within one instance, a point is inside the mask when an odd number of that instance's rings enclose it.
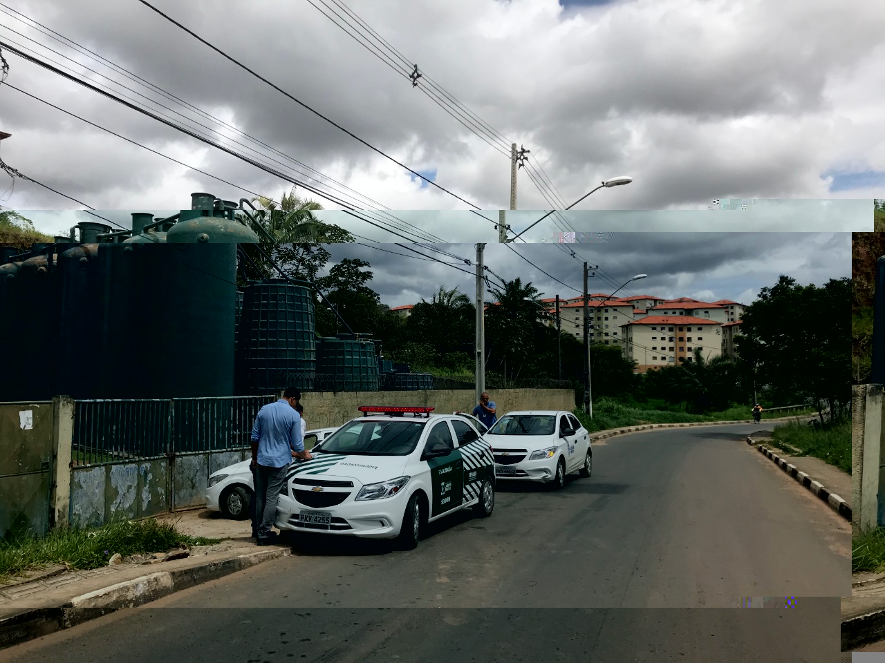
<instances>
[{"instance_id":1,"label":"short grid-ribbed green tank just right of the tall ribbed one","mask_svg":"<svg viewBox=\"0 0 885 663\"><path fill-rule=\"evenodd\" d=\"M377 392L378 356L374 343L317 339L317 389L333 392Z\"/></svg>"}]
</instances>

